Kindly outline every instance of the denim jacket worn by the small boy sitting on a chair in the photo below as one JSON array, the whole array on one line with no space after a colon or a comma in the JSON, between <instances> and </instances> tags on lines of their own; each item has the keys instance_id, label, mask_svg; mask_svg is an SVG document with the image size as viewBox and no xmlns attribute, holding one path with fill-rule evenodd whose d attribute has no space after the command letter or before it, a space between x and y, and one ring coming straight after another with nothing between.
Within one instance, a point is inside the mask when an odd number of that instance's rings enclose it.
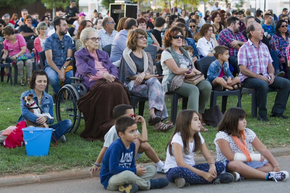
<instances>
[{"instance_id":1,"label":"denim jacket worn by the small boy sitting on a chair","mask_svg":"<svg viewBox=\"0 0 290 193\"><path fill-rule=\"evenodd\" d=\"M209 82L212 82L213 80L215 80L215 78L217 78L220 75L220 71L221 71L222 67L223 67L223 70L224 70L224 77L234 78L233 75L231 74L231 71L230 71L229 66L227 65L227 63L224 62L223 66L221 66L220 62L218 61L218 59L216 59L209 66L209 69L207 71L206 80L209 81Z\"/></svg>"}]
</instances>

